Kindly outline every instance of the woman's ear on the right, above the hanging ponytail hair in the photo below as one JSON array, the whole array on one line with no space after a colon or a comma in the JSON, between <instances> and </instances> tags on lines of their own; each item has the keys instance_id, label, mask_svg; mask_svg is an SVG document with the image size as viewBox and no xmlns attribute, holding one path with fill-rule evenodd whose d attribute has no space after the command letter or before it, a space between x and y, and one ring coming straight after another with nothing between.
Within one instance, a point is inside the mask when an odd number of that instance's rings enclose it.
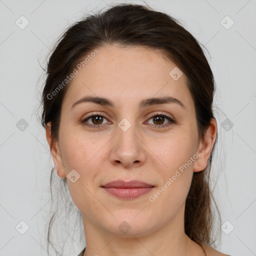
<instances>
[{"instance_id":1,"label":"woman's ear on the right, above the hanging ponytail hair","mask_svg":"<svg viewBox=\"0 0 256 256\"><path fill-rule=\"evenodd\" d=\"M210 157L217 134L217 123L215 118L210 119L210 125L205 132L204 137L200 140L197 150L201 153L194 163L193 171L204 170Z\"/></svg>"}]
</instances>

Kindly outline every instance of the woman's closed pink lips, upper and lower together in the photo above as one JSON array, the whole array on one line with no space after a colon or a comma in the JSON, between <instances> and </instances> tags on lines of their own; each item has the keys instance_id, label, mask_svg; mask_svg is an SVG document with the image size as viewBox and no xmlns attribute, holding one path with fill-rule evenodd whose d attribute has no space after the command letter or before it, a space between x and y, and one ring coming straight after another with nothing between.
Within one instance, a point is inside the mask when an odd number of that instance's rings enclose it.
<instances>
[{"instance_id":1,"label":"woman's closed pink lips, upper and lower together","mask_svg":"<svg viewBox=\"0 0 256 256\"><path fill-rule=\"evenodd\" d=\"M101 186L106 192L122 199L133 199L148 193L154 187L139 180L114 180Z\"/></svg>"}]
</instances>

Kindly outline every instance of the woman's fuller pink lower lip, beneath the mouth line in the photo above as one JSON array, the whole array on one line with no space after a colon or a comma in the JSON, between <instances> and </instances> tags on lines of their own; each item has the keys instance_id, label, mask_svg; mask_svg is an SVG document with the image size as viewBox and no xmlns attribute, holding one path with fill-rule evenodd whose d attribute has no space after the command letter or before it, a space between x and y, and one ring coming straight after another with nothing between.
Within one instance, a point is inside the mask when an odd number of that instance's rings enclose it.
<instances>
[{"instance_id":1,"label":"woman's fuller pink lower lip, beneath the mouth line","mask_svg":"<svg viewBox=\"0 0 256 256\"><path fill-rule=\"evenodd\" d=\"M106 192L118 198L132 199L148 193L154 187L134 187L134 188L103 187L103 188Z\"/></svg>"}]
</instances>

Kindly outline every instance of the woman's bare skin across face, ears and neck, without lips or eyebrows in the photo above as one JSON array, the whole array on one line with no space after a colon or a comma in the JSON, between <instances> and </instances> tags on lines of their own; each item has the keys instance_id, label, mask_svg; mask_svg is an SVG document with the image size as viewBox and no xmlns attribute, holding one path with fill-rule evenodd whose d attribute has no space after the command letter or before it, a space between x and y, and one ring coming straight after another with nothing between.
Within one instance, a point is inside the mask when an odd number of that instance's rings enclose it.
<instances>
[{"instance_id":1,"label":"woman's bare skin across face, ears and neck, without lips or eyebrows","mask_svg":"<svg viewBox=\"0 0 256 256\"><path fill-rule=\"evenodd\" d=\"M98 50L68 85L58 139L52 140L50 123L46 126L59 176L65 178L72 169L80 175L74 183L66 180L82 213L84 255L203 256L202 248L184 233L184 206L193 172L203 170L210 156L216 136L215 120L211 119L204 140L200 140L186 76L183 73L174 80L169 72L176 65L159 52L117 45ZM71 108L86 95L109 98L115 106L83 102ZM138 108L142 99L160 96L175 97L184 107L165 103ZM94 128L85 126L82 120L95 113L104 116L102 126L97 128L100 122L93 118L86 123ZM161 120L151 118L154 114L166 114L175 123L164 118L162 122L170 125L156 127ZM126 131L118 126L123 118L131 124ZM197 151L200 156L150 202L149 196ZM101 187L116 179L137 179L155 187L135 199L120 199ZM130 227L125 234L119 229L123 221Z\"/></svg>"}]
</instances>

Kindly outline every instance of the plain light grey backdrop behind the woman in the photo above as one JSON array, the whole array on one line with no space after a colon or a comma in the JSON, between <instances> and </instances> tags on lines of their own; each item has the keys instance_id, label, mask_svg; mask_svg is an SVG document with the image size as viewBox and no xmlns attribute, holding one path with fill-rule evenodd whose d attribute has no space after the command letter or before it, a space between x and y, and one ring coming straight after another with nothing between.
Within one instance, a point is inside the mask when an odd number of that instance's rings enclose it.
<instances>
[{"instance_id":1,"label":"plain light grey backdrop behind the woman","mask_svg":"<svg viewBox=\"0 0 256 256\"><path fill-rule=\"evenodd\" d=\"M47 255L43 231L53 162L45 130L36 117L42 86L40 64L45 66L57 37L83 12L123 2L143 4L108 0L0 0L2 256ZM217 86L214 112L219 135L211 170L214 196L222 217L217 249L233 256L256 255L256 1L146 3L180 20L209 52L204 50ZM65 255L77 255L84 245L85 240L76 242L75 251L65 250Z\"/></svg>"}]
</instances>

